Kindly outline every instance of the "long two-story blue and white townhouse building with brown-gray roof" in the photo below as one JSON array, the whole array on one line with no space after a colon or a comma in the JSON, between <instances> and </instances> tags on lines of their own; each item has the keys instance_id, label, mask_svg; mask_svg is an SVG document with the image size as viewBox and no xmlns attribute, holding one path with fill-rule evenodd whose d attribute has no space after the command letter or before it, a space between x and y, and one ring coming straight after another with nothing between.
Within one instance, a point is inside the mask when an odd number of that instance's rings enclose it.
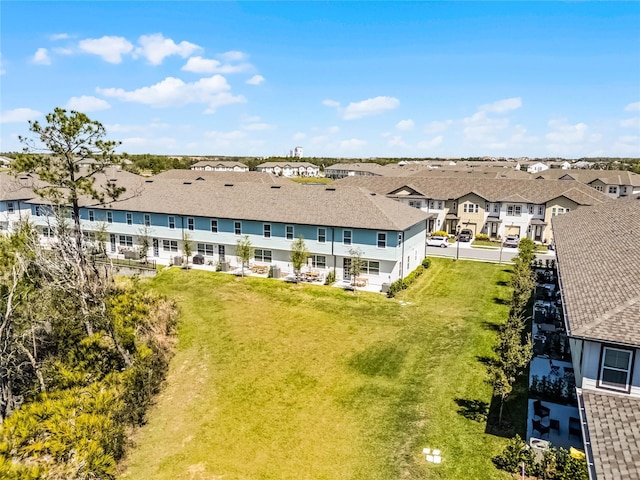
<instances>
[{"instance_id":1,"label":"long two-story blue and white townhouse building with brown-gray roof","mask_svg":"<svg viewBox=\"0 0 640 480\"><path fill-rule=\"evenodd\" d=\"M106 228L110 255L139 249L148 237L145 253L160 263L181 257L188 241L207 263L237 264L237 242L248 235L256 252L252 262L292 272L291 243L302 236L311 253L309 268L321 275L334 270L338 279L349 279L352 249L358 249L362 277L380 288L406 276L425 257L427 215L365 189L118 173L123 175L110 181L127 188L125 195L108 205L84 202L80 212L87 235ZM47 215L46 202L31 194L21 204L23 217L40 229L43 242L55 241L55 219Z\"/></svg>"}]
</instances>

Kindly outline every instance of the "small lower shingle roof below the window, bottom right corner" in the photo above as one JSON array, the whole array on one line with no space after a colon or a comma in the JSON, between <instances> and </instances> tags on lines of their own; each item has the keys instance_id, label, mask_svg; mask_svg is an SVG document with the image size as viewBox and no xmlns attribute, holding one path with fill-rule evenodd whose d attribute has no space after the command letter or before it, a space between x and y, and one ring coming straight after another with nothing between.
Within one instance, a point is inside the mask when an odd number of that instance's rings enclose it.
<instances>
[{"instance_id":1,"label":"small lower shingle roof below the window, bottom right corner","mask_svg":"<svg viewBox=\"0 0 640 480\"><path fill-rule=\"evenodd\" d=\"M582 391L598 480L640 480L640 398Z\"/></svg>"}]
</instances>

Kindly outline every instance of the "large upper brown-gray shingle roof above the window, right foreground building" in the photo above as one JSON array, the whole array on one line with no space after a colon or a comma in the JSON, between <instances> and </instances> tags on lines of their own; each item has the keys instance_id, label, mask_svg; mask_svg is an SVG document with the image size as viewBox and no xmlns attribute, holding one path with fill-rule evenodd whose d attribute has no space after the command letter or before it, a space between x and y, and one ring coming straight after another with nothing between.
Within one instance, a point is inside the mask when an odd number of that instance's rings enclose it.
<instances>
[{"instance_id":1,"label":"large upper brown-gray shingle roof above the window, right foreground building","mask_svg":"<svg viewBox=\"0 0 640 480\"><path fill-rule=\"evenodd\" d=\"M570 333L640 345L640 202L611 200L552 225Z\"/></svg>"}]
</instances>

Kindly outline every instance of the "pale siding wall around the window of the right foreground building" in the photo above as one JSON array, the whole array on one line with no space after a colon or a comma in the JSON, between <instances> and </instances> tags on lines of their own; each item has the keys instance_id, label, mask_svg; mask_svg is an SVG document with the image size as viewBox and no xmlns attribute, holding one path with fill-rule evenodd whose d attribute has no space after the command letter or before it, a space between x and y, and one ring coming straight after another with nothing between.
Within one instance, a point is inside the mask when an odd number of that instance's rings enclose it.
<instances>
[{"instance_id":1,"label":"pale siding wall around the window of the right foreground building","mask_svg":"<svg viewBox=\"0 0 640 480\"><path fill-rule=\"evenodd\" d=\"M574 343L582 343L582 364L578 366L580 370L580 377L576 376L576 386L585 390L598 390L602 392L616 392L607 388L598 386L598 378L600 376L600 364L602 361L602 344L599 342L584 341L575 339ZM616 345L608 345L613 348L620 348L627 350L629 347L616 347ZM633 358L634 365L632 366L631 388L630 393L618 392L622 395L631 395L633 397L640 397L640 349L635 348L635 355ZM580 355L575 355L572 352L574 363L580 362Z\"/></svg>"}]
</instances>

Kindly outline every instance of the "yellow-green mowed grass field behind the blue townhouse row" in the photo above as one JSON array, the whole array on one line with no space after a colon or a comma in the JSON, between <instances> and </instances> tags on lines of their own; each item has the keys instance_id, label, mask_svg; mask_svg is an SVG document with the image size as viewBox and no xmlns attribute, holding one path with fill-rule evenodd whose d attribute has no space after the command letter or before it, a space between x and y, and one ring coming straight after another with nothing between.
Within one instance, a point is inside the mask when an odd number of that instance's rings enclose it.
<instances>
[{"instance_id":1,"label":"yellow-green mowed grass field behind the blue townhouse row","mask_svg":"<svg viewBox=\"0 0 640 480\"><path fill-rule=\"evenodd\" d=\"M498 479L460 404L506 319L505 266L433 259L395 299L170 269L181 309L166 387L122 479ZM422 450L442 451L429 464Z\"/></svg>"}]
</instances>

